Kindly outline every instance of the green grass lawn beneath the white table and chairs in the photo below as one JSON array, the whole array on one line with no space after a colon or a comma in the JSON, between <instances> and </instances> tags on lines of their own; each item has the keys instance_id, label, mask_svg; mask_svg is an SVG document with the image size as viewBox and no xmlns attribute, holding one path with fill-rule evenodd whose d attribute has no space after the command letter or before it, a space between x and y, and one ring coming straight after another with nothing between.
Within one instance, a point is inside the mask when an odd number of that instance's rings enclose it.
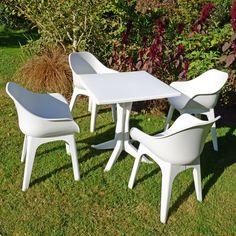
<instances>
[{"instance_id":1,"label":"green grass lawn beneath the white table and chairs","mask_svg":"<svg viewBox=\"0 0 236 236\"><path fill-rule=\"evenodd\" d=\"M0 62L0 235L236 235L234 127L217 129L219 152L208 137L201 156L202 203L196 200L191 170L176 178L166 225L159 220L160 168L142 163L133 190L127 186L134 162L130 155L123 153L105 173L111 151L91 145L111 139L115 126L110 109L100 107L91 134L85 99L73 111L81 128L76 135L81 180L73 180L64 144L45 144L37 151L30 188L22 192L23 135L5 93L21 63L19 48L0 44ZM164 117L132 114L131 126L155 133L162 130Z\"/></svg>"}]
</instances>

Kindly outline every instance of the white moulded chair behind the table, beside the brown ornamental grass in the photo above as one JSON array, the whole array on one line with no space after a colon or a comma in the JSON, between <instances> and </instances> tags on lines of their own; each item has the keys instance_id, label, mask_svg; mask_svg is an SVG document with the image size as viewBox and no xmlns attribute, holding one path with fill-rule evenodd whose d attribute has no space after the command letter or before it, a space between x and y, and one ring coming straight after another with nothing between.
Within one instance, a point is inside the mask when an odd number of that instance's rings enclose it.
<instances>
[{"instance_id":1,"label":"white moulded chair behind the table, beside the brown ornamental grass","mask_svg":"<svg viewBox=\"0 0 236 236\"><path fill-rule=\"evenodd\" d=\"M89 97L89 108L91 112L90 132L94 132L96 128L97 106L92 101L89 92L80 82L81 74L102 74L102 73L118 73L115 70L104 66L93 54L89 52L73 52L69 55L69 64L73 76L73 94L70 101L70 110L73 109L74 103L78 95L86 95ZM105 91L104 91L105 92ZM116 105L112 105L112 118L116 122Z\"/></svg>"}]
</instances>

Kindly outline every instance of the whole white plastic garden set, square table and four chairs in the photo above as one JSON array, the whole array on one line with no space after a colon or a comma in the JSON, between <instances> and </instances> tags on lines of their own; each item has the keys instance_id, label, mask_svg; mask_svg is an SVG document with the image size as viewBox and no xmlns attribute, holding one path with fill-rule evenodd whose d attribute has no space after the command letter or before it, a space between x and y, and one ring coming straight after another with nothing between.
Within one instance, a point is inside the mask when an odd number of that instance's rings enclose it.
<instances>
[{"instance_id":1,"label":"whole white plastic garden set, square table and four chairs","mask_svg":"<svg viewBox=\"0 0 236 236\"><path fill-rule=\"evenodd\" d=\"M66 142L66 151L72 159L74 179L79 180L74 139L74 133L79 132L79 126L74 122L70 110L76 97L82 94L89 96L90 100L91 132L95 130L97 105L111 104L115 119L117 115L114 139L93 145L96 149L114 149L105 171L111 169L123 150L131 154L135 157L135 162L128 187L133 188L141 160L152 162L145 155L160 166L162 223L166 223L167 220L172 183L178 173L193 168L197 199L202 201L200 154L210 129L212 129L214 149L218 150L215 122L219 117L214 117L214 106L220 89L227 80L227 73L209 70L194 80L174 82L168 86L144 71L120 73L113 71L88 52L70 54L69 63L74 84L70 105L58 93L38 94L12 82L6 85L6 91L17 109L19 127L25 135L21 156L21 161L25 161L22 190L26 191L29 187L38 146L51 141ZM168 98L170 102L165 131L155 136L145 134L137 128L129 131L132 103L160 98ZM174 109L180 111L182 115L169 128ZM183 113L206 114L208 120L203 121ZM140 142L138 150L131 144L130 136Z\"/></svg>"}]
</instances>

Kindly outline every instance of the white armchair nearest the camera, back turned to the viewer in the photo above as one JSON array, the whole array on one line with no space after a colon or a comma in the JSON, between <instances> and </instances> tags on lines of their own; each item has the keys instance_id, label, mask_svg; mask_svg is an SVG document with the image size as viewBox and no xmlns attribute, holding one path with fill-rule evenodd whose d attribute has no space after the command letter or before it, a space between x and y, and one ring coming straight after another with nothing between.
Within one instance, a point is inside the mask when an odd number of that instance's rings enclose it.
<instances>
[{"instance_id":1,"label":"white armchair nearest the camera, back turned to the viewer","mask_svg":"<svg viewBox=\"0 0 236 236\"><path fill-rule=\"evenodd\" d=\"M183 114L166 131L155 136L132 128L130 135L140 142L138 158L135 159L130 176L129 188L133 188L134 180L144 154L150 156L161 168L161 214L160 220L166 223L172 183L180 172L193 168L193 178L198 201L202 201L200 154L212 124L220 117L210 121Z\"/></svg>"}]
</instances>

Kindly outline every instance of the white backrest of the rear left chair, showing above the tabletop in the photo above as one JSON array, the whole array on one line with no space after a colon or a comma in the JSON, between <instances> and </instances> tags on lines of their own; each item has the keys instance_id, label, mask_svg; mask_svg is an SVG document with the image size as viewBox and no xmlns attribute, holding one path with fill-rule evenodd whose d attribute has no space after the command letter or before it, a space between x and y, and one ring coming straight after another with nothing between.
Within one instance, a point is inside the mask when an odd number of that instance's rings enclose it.
<instances>
[{"instance_id":1,"label":"white backrest of the rear left chair, showing above the tabletop","mask_svg":"<svg viewBox=\"0 0 236 236\"><path fill-rule=\"evenodd\" d=\"M72 52L69 55L69 64L73 74L112 73L113 70L104 66L89 52Z\"/></svg>"}]
</instances>

